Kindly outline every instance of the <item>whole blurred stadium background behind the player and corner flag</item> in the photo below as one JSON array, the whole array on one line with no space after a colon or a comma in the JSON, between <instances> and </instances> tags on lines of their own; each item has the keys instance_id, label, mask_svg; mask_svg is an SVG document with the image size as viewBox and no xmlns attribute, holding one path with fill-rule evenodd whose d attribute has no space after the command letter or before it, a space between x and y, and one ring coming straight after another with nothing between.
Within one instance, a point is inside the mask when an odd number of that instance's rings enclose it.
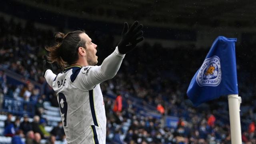
<instances>
[{"instance_id":1,"label":"whole blurred stadium background behind the player and corner flag","mask_svg":"<svg viewBox=\"0 0 256 144\"><path fill-rule=\"evenodd\" d=\"M242 141L256 144L256 1L1 0L0 144L66 144L56 94L42 76L54 32L85 30L100 65L124 22L145 40L100 84L107 144L231 144L227 96L194 107L186 90L217 36L238 38ZM60 72L54 66L54 72ZM20 142L21 140L21 142Z\"/></svg>"}]
</instances>

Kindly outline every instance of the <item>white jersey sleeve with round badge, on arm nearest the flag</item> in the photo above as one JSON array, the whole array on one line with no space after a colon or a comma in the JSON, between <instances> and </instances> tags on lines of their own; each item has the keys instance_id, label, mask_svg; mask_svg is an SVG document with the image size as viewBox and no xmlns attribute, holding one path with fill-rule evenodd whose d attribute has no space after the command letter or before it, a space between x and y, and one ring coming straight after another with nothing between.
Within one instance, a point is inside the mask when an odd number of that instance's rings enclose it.
<instances>
[{"instance_id":1,"label":"white jersey sleeve with round badge, on arm nearest the flag","mask_svg":"<svg viewBox=\"0 0 256 144\"><path fill-rule=\"evenodd\" d=\"M78 75L81 88L91 90L97 84L113 78L118 72L125 54L120 54L118 47L100 66L84 66Z\"/></svg>"}]
</instances>

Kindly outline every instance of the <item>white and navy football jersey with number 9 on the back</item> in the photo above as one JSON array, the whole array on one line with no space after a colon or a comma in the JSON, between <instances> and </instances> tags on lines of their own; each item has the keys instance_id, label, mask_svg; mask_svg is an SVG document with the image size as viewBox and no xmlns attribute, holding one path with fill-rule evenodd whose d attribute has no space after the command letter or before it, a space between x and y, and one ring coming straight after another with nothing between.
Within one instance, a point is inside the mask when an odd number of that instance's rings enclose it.
<instances>
[{"instance_id":1,"label":"white and navy football jersey with number 9 on the back","mask_svg":"<svg viewBox=\"0 0 256 144\"><path fill-rule=\"evenodd\" d=\"M118 48L101 66L71 66L45 78L57 93L62 124L69 144L105 144L106 114L100 83L113 78L124 54Z\"/></svg>"}]
</instances>

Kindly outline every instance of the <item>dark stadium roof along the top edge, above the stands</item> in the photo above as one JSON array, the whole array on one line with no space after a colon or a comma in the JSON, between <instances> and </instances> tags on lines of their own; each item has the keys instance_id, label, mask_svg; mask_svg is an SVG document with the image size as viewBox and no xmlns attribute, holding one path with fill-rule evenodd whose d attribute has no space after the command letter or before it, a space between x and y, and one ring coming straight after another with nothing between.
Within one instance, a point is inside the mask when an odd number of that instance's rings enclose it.
<instances>
[{"instance_id":1,"label":"dark stadium roof along the top edge, above the stands","mask_svg":"<svg viewBox=\"0 0 256 144\"><path fill-rule=\"evenodd\" d=\"M256 24L254 0L23 0L58 13L112 22L140 20L166 26L248 27Z\"/></svg>"}]
</instances>

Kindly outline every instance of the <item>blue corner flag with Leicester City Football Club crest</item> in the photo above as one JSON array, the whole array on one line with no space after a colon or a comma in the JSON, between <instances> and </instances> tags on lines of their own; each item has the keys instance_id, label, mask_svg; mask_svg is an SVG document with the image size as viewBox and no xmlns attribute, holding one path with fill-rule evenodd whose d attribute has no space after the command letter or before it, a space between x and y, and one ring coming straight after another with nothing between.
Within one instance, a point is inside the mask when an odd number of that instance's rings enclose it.
<instances>
[{"instance_id":1,"label":"blue corner flag with Leicester City Football Club crest","mask_svg":"<svg viewBox=\"0 0 256 144\"><path fill-rule=\"evenodd\" d=\"M194 106L222 95L238 94L235 42L236 38L224 36L213 42L188 87L187 95Z\"/></svg>"}]
</instances>

